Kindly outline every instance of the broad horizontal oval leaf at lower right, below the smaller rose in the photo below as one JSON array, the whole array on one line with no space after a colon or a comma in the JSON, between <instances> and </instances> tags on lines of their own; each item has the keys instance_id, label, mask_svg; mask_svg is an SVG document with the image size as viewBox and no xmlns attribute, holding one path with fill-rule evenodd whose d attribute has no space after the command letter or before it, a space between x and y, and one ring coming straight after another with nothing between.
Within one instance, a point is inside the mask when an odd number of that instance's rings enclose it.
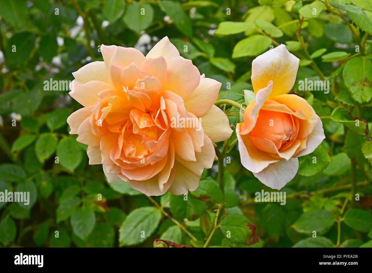
<instances>
[{"instance_id":1,"label":"broad horizontal oval leaf at lower right, below the smaller rose","mask_svg":"<svg viewBox=\"0 0 372 273\"><path fill-rule=\"evenodd\" d=\"M325 209L305 212L292 225L299 233L311 234L313 231L317 233L325 233L334 224L335 219L331 213Z\"/></svg>"}]
</instances>

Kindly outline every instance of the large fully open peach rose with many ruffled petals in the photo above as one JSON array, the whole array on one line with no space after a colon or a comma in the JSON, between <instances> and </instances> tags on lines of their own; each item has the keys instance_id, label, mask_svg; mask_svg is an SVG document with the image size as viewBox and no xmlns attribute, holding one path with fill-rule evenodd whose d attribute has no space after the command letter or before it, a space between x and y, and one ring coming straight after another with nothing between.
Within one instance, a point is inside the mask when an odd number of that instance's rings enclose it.
<instances>
[{"instance_id":1,"label":"large fully open peach rose with many ruffled petals","mask_svg":"<svg viewBox=\"0 0 372 273\"><path fill-rule=\"evenodd\" d=\"M221 83L201 76L167 37L146 56L113 45L101 51L103 62L73 73L69 93L84 106L67 122L88 145L89 164L102 164L109 182L124 180L146 195L194 191L212 167L214 142L232 133L214 105ZM172 126L177 118L201 125Z\"/></svg>"}]
</instances>

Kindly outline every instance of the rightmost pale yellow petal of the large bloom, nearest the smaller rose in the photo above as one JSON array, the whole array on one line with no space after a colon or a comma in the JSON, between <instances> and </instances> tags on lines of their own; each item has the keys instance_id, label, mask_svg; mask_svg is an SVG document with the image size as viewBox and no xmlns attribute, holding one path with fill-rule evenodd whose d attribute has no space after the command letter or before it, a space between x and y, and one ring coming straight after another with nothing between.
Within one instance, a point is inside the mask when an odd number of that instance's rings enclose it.
<instances>
[{"instance_id":1,"label":"rightmost pale yellow petal of the large bloom, nearest the smaller rose","mask_svg":"<svg viewBox=\"0 0 372 273\"><path fill-rule=\"evenodd\" d=\"M200 117L204 133L212 140L219 142L228 139L232 130L229 125L229 119L225 113L216 105L202 117Z\"/></svg>"}]
</instances>

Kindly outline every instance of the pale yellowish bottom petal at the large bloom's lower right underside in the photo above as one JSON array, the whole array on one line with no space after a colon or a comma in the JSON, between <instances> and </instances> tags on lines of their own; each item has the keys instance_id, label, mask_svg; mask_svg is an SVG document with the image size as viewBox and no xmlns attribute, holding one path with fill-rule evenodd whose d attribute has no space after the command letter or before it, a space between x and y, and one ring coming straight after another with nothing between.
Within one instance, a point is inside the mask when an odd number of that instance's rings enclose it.
<instances>
[{"instance_id":1,"label":"pale yellowish bottom petal at the large bloom's lower right underside","mask_svg":"<svg viewBox=\"0 0 372 273\"><path fill-rule=\"evenodd\" d=\"M200 175L196 175L180 162L175 162L176 176L169 191L174 195L187 194L189 191L195 191L200 182Z\"/></svg>"}]
</instances>

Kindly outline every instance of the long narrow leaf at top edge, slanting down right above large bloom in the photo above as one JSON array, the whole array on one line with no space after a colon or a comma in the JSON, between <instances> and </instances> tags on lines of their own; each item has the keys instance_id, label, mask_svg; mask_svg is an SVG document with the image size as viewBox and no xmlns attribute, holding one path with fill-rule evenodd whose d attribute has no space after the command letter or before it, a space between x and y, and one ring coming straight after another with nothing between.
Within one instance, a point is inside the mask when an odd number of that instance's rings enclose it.
<instances>
[{"instance_id":1,"label":"long narrow leaf at top edge, slanting down right above large bloom","mask_svg":"<svg viewBox=\"0 0 372 273\"><path fill-rule=\"evenodd\" d=\"M188 37L192 36L192 25L189 16L182 9L180 3L169 0L163 0L160 2L161 7L165 10L165 13L169 15L170 19L174 22L177 29Z\"/></svg>"}]
</instances>

